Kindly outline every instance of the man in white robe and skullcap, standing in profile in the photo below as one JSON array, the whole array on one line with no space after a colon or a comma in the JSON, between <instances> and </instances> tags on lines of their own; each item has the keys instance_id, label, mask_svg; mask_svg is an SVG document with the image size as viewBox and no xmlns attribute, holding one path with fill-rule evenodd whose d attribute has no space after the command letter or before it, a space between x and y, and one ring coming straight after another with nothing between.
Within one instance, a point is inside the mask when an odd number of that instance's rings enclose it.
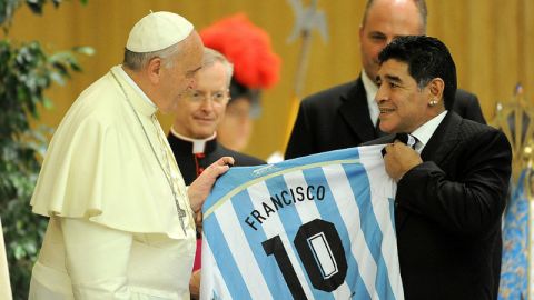
<instances>
[{"instance_id":1,"label":"man in white robe and skullcap, standing in profile","mask_svg":"<svg viewBox=\"0 0 534 300\"><path fill-rule=\"evenodd\" d=\"M150 13L130 31L122 66L75 101L31 200L50 221L30 299L189 299L195 213L234 160L186 190L155 113L194 88L202 51L189 21Z\"/></svg>"}]
</instances>

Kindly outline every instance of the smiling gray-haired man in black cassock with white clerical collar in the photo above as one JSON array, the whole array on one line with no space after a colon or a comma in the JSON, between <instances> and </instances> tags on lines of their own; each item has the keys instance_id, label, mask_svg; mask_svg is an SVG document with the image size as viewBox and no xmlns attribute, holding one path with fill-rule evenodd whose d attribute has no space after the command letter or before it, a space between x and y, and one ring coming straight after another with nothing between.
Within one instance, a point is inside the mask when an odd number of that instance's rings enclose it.
<instances>
[{"instance_id":1,"label":"smiling gray-haired man in black cassock with white clerical collar","mask_svg":"<svg viewBox=\"0 0 534 300\"><path fill-rule=\"evenodd\" d=\"M234 166L257 166L265 161L225 148L217 141L217 126L230 100L233 64L219 52L205 48L202 68L195 73L196 88L178 102L168 134L180 172L189 186L209 164L221 157L233 157ZM198 237L200 238L200 237ZM191 297L198 297L200 283L200 239L197 240Z\"/></svg>"}]
</instances>

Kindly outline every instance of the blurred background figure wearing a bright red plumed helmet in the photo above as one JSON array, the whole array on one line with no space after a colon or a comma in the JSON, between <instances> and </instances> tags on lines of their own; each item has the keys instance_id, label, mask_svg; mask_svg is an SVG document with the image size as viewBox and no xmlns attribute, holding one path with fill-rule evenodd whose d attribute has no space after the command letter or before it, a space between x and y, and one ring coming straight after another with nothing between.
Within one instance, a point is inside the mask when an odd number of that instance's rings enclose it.
<instances>
[{"instance_id":1,"label":"blurred background figure wearing a bright red plumed helmet","mask_svg":"<svg viewBox=\"0 0 534 300\"><path fill-rule=\"evenodd\" d=\"M234 64L230 101L217 128L218 141L243 151L250 139L254 119L260 114L260 92L279 80L280 58L267 32L244 14L224 18L200 31L206 47L222 53Z\"/></svg>"}]
</instances>

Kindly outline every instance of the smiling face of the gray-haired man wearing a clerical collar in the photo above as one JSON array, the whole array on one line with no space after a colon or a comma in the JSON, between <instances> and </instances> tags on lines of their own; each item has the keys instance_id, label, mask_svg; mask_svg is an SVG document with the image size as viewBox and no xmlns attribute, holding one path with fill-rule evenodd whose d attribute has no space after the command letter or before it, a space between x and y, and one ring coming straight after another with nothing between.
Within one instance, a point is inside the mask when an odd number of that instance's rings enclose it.
<instances>
[{"instance_id":1,"label":"smiling face of the gray-haired man wearing a clerical collar","mask_svg":"<svg viewBox=\"0 0 534 300\"><path fill-rule=\"evenodd\" d=\"M174 128L194 139L211 137L228 103L228 72L221 62L204 67L195 76L196 87L180 97Z\"/></svg>"}]
</instances>

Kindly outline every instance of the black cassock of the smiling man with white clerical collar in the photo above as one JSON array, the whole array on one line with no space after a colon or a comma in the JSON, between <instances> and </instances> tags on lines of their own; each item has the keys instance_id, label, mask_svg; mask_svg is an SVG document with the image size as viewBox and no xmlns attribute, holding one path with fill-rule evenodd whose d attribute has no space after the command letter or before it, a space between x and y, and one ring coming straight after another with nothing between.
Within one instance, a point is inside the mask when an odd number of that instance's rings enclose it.
<instances>
[{"instance_id":1,"label":"black cassock of the smiling man with white clerical collar","mask_svg":"<svg viewBox=\"0 0 534 300\"><path fill-rule=\"evenodd\" d=\"M234 166L257 166L266 163L255 157L225 148L217 142L216 139L206 142L204 157L196 159L195 154L192 154L192 142L181 140L172 133L169 133L167 139L187 186L191 184L191 182L197 179L197 162L198 168L201 169L206 169L209 164L214 163L221 157L233 157Z\"/></svg>"}]
</instances>

